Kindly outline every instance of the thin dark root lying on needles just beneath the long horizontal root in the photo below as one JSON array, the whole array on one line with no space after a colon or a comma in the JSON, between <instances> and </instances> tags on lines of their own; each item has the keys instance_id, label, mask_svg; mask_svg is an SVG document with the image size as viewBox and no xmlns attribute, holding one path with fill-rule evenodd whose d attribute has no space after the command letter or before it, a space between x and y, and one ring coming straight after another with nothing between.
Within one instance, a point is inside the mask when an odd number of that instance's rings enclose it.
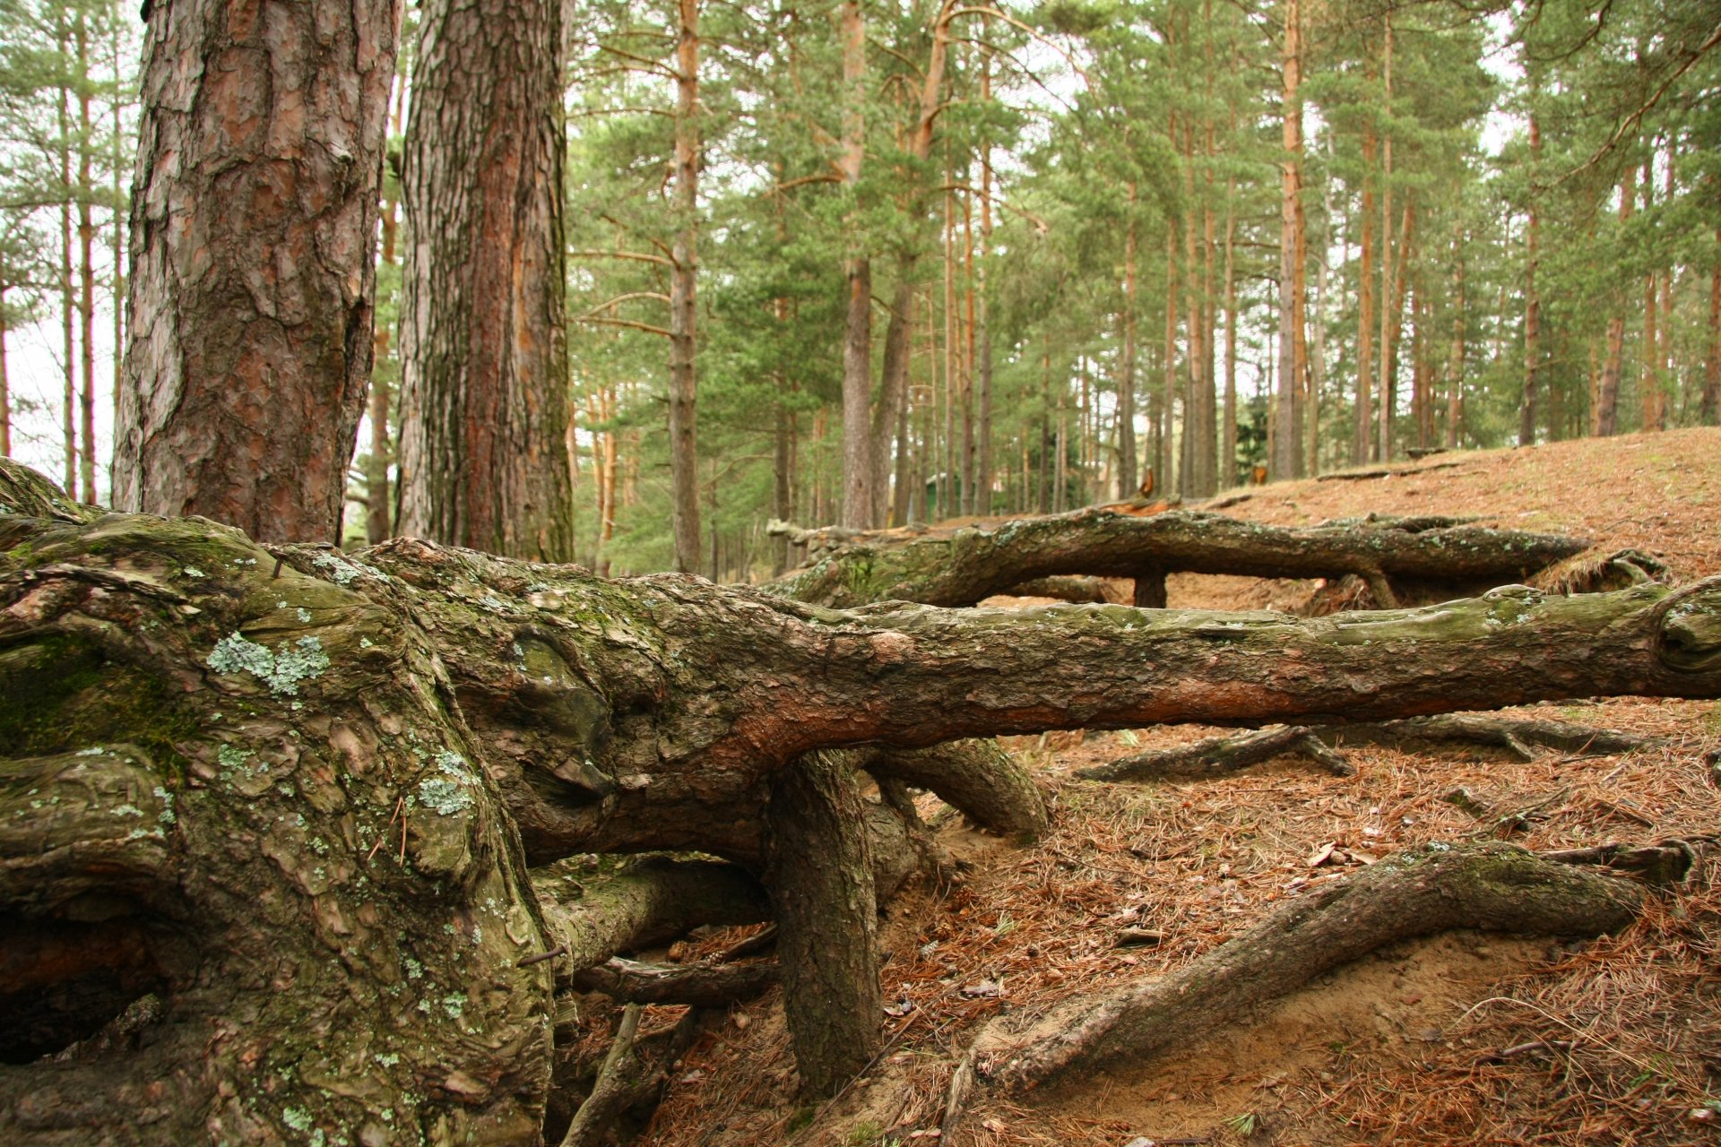
<instances>
[{"instance_id":1,"label":"thin dark root lying on needles just beneath the long horizontal root","mask_svg":"<svg viewBox=\"0 0 1721 1147\"><path fill-rule=\"evenodd\" d=\"M1356 769L1341 745L1406 745L1413 741L1463 741L1504 748L1520 760L1535 760L1535 748L1563 753L1626 753L1652 745L1656 738L1592 729L1564 721L1508 721L1480 714L1437 714L1351 726L1272 726L1237 736L1215 736L1191 745L1148 750L1103 765L1079 769L1084 781L1200 781L1286 753L1313 758L1322 769L1348 777Z\"/></svg>"}]
</instances>

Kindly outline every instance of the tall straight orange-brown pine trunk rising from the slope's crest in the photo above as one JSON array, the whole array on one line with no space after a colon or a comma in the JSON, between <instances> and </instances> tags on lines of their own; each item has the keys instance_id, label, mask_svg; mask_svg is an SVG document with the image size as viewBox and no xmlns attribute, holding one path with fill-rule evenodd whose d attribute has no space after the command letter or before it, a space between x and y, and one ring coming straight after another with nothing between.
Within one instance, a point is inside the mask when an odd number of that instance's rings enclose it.
<instances>
[{"instance_id":1,"label":"tall straight orange-brown pine trunk rising from the slope's crest","mask_svg":"<svg viewBox=\"0 0 1721 1147\"><path fill-rule=\"evenodd\" d=\"M1279 404L1274 411L1272 473L1275 478L1303 476L1303 365L1298 358L1301 334L1301 163L1303 163L1303 17L1301 0L1284 0L1284 45L1280 64L1280 158L1279 158Z\"/></svg>"}]
</instances>

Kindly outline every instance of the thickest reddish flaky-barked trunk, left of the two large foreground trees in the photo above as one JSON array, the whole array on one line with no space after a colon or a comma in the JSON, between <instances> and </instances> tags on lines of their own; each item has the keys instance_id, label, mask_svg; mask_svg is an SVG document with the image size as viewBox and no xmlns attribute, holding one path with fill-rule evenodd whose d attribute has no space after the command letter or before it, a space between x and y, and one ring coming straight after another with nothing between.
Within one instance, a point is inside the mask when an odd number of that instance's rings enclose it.
<instances>
[{"instance_id":1,"label":"thickest reddish flaky-barked trunk, left of the two large foreground trees","mask_svg":"<svg viewBox=\"0 0 1721 1147\"><path fill-rule=\"evenodd\" d=\"M114 504L332 542L399 0L150 5Z\"/></svg>"}]
</instances>

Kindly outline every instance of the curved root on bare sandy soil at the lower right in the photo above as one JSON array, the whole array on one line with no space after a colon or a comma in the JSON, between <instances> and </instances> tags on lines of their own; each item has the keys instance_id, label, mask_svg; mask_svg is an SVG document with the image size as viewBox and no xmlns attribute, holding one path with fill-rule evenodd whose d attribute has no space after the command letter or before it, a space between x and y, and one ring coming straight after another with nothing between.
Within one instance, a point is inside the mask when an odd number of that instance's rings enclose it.
<instances>
[{"instance_id":1,"label":"curved root on bare sandy soil at the lower right","mask_svg":"<svg viewBox=\"0 0 1721 1147\"><path fill-rule=\"evenodd\" d=\"M1656 874L1683 879L1690 848L1669 850L1657 853ZM1280 905L1244 935L1162 980L1077 997L1026 1030L990 1023L953 1092L965 1080L1022 1092L1122 1058L1139 1063L1165 1054L1394 941L1451 929L1597 935L1628 925L1642 899L1633 880L1509 844L1409 850ZM964 1106L965 1097L952 1094L950 1114L959 1118Z\"/></svg>"}]
</instances>

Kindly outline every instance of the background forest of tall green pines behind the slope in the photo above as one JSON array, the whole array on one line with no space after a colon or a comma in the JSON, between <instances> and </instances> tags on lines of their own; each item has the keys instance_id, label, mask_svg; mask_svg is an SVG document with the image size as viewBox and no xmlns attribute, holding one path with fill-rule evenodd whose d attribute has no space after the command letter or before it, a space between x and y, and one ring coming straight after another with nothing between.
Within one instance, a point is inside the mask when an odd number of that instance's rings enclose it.
<instances>
[{"instance_id":1,"label":"background forest of tall green pines behind the slope","mask_svg":"<svg viewBox=\"0 0 1721 1147\"><path fill-rule=\"evenodd\" d=\"M1699 0L561 22L568 555L601 571L769 576L773 518L1048 512L1148 475L1198 499L1255 466L1716 421ZM0 3L0 454L84 500L127 337L139 34L108 0ZM413 416L401 43L349 540L398 530Z\"/></svg>"}]
</instances>

